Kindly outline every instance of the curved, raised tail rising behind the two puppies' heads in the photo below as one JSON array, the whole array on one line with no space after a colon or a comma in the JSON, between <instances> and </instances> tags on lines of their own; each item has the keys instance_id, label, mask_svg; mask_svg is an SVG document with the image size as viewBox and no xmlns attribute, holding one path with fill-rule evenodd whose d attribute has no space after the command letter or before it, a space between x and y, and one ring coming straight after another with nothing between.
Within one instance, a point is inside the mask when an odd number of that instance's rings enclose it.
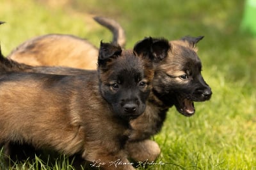
<instances>
[{"instance_id":1,"label":"curved, raised tail rising behind the two puppies' heads","mask_svg":"<svg viewBox=\"0 0 256 170\"><path fill-rule=\"evenodd\" d=\"M100 25L107 27L113 33L113 43L117 43L122 48L125 47L126 38L124 29L113 19L109 19L106 17L93 17Z\"/></svg>"}]
</instances>

